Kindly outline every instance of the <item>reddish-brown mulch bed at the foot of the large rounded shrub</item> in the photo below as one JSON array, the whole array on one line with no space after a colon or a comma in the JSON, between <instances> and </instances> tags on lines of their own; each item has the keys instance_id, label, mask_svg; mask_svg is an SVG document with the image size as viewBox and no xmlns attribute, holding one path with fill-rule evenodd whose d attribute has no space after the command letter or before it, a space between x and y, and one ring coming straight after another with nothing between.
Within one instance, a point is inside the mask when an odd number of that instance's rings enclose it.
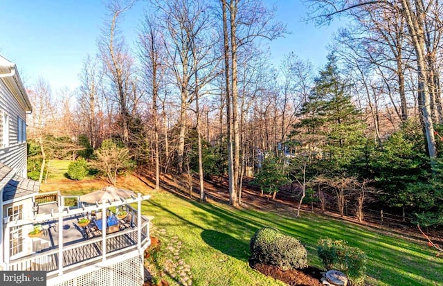
<instances>
[{"instance_id":1,"label":"reddish-brown mulch bed at the foot of the large rounded shrub","mask_svg":"<svg viewBox=\"0 0 443 286\"><path fill-rule=\"evenodd\" d=\"M260 271L266 276L271 276L281 280L291 286L322 286L320 279L322 278L322 270L316 267L307 267L304 269L282 270L273 265L255 264L251 267Z\"/></svg>"}]
</instances>

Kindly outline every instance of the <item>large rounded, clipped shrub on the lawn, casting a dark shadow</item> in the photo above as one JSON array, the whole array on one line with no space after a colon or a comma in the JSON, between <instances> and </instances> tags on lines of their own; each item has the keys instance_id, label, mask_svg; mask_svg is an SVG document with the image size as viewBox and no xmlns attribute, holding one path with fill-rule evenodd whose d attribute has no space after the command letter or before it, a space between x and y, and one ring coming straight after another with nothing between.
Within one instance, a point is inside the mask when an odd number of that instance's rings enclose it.
<instances>
[{"instance_id":1,"label":"large rounded, clipped shrub on the lawn, casting a dark shadow","mask_svg":"<svg viewBox=\"0 0 443 286\"><path fill-rule=\"evenodd\" d=\"M250 242L251 261L275 265L283 270L307 267L307 251L296 238L277 229L259 229Z\"/></svg>"}]
</instances>

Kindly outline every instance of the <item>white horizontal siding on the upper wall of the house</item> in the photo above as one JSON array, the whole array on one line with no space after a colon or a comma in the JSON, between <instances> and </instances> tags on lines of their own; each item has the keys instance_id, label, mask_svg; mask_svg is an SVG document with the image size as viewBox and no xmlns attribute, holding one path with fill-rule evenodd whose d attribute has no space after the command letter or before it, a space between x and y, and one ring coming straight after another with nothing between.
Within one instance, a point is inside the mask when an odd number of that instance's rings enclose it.
<instances>
[{"instance_id":1,"label":"white horizontal siding on the upper wall of the house","mask_svg":"<svg viewBox=\"0 0 443 286\"><path fill-rule=\"evenodd\" d=\"M9 116L9 146L0 146L0 162L17 171L17 175L26 177L26 142L18 143L18 117L26 120L26 112L17 98L12 96L6 84L0 78L0 120L3 114ZM2 126L5 128L4 126ZM3 132L0 132L3 136Z\"/></svg>"}]
</instances>

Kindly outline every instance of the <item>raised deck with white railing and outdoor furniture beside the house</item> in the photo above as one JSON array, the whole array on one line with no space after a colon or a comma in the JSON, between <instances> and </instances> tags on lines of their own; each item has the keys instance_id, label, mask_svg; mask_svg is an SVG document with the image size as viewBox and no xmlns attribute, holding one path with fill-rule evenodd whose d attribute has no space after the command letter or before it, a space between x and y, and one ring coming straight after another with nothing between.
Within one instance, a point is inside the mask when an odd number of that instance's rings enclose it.
<instances>
[{"instance_id":1,"label":"raised deck with white railing and outdoor furniture beside the house","mask_svg":"<svg viewBox=\"0 0 443 286\"><path fill-rule=\"evenodd\" d=\"M141 202L149 198L149 195L137 194L137 197L120 198L114 202L78 206L69 202L70 197L60 196L60 193L35 196L38 204L33 207L33 221L7 222L4 241L9 242L10 227L35 227L39 224L44 229L43 235L39 238L25 238L31 240L33 253L20 258L8 256L6 270L46 271L48 279L57 280L70 272L75 272L75 275L89 273L93 269L89 266L101 265L109 259L116 261L126 254L143 256L143 250L150 245L150 220L153 217L141 215ZM135 204L136 208L133 207ZM90 225L78 225L80 217L92 213L97 217L107 217L112 211L122 208L127 212L129 220L112 224L116 226L114 229L109 229L105 223L102 223L102 228L107 231L100 231L98 224L94 224L94 231L88 231ZM112 225L109 223L108 226ZM5 247L8 249L8 243ZM134 271L138 271L138 267Z\"/></svg>"}]
</instances>

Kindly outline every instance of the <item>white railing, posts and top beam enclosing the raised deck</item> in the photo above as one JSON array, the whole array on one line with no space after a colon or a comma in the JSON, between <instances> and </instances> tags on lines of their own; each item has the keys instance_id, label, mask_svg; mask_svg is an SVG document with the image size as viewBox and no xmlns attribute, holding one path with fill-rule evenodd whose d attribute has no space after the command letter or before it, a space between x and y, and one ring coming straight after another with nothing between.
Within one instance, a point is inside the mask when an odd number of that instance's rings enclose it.
<instances>
[{"instance_id":1,"label":"white railing, posts and top beam enclosing the raised deck","mask_svg":"<svg viewBox=\"0 0 443 286\"><path fill-rule=\"evenodd\" d=\"M55 194L56 193L56 194ZM37 195L35 202L42 204L52 204L54 202L63 203L63 197L60 195L55 199L54 195L59 195L58 192L42 194L42 197ZM116 202L104 202L102 204L96 203L92 206L82 206L73 210L62 210L59 212L51 212L51 214L44 214L41 217L35 219L33 222L17 221L8 222L6 224L6 234L9 233L8 229L12 226L24 226L26 224L36 224L58 220L58 244L42 249L39 252L33 253L29 256L25 256L17 259L10 259L8 256L6 259L6 269L11 271L46 271L47 276L60 276L66 273L66 271L72 271L74 269L80 269L86 264L94 263L98 260L104 261L107 258L116 256L118 253L126 253L137 250L143 251L150 244L150 220L153 217L143 217L141 215L141 201L149 199L150 196L131 197L129 199L120 199ZM137 203L137 208L133 208L129 204ZM124 207L128 213L131 213L132 220L131 225L126 229L117 231L115 233L102 232L100 236L71 243L64 242L63 237L63 225L64 220L73 216L84 215L91 211L101 211L102 217L105 217L110 207L121 208ZM104 229L106 229L105 222L103 222ZM5 242L9 241L8 235L6 235ZM9 249L8 243L4 245L5 249ZM140 252L143 254L142 252Z\"/></svg>"}]
</instances>

